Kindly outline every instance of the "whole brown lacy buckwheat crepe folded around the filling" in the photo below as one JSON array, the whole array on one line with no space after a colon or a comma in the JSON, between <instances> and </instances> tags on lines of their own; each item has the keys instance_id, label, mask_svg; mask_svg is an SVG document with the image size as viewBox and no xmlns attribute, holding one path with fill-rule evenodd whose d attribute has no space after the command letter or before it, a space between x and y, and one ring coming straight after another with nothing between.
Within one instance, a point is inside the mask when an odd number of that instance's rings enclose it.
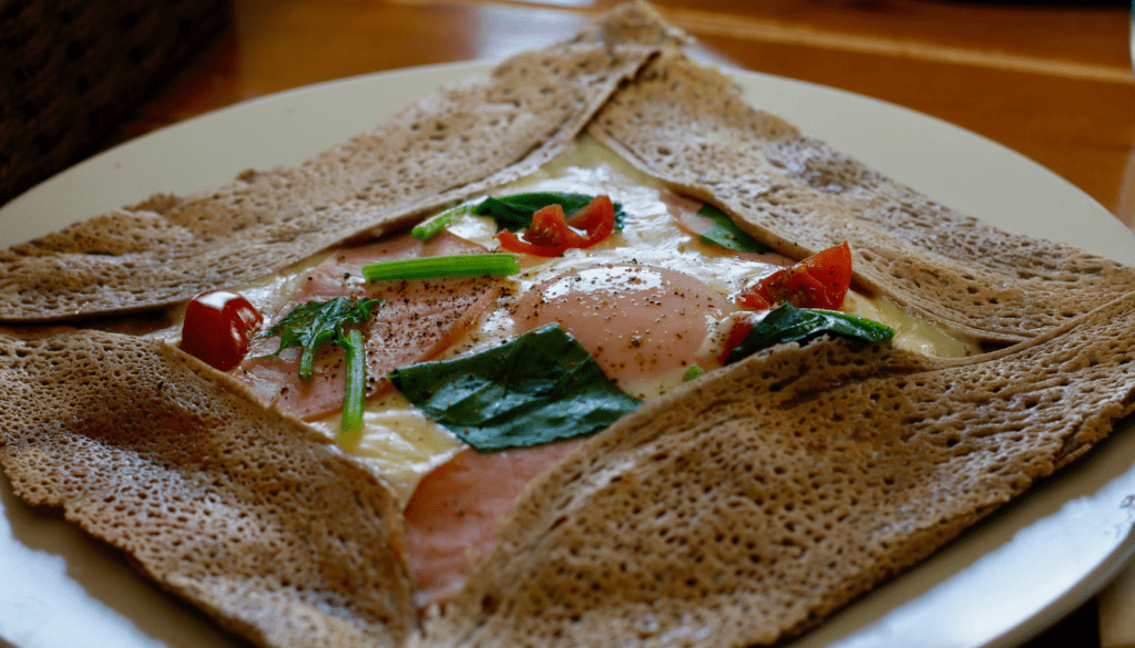
<instances>
[{"instance_id":1,"label":"whole brown lacy buckwheat crepe folded around the filling","mask_svg":"<svg viewBox=\"0 0 1135 648\"><path fill-rule=\"evenodd\" d=\"M424 634L381 481L174 347L0 335L17 494L262 646L742 646L818 622L1128 412L1132 269L982 226L801 137L682 40L621 7L299 166L17 245L0 320L249 281L527 174L589 127L782 252L849 239L861 285L980 339L1034 339L965 361L789 345L648 403L521 496Z\"/></svg>"}]
</instances>

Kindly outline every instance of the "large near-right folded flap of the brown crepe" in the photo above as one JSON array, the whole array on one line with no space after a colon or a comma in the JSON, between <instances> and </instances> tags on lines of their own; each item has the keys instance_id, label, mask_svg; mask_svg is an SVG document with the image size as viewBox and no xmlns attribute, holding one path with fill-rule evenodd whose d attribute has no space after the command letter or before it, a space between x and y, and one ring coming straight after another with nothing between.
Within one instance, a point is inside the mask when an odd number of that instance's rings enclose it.
<instances>
[{"instance_id":1,"label":"large near-right folded flap of the brown crepe","mask_svg":"<svg viewBox=\"0 0 1135 648\"><path fill-rule=\"evenodd\" d=\"M431 646L770 645L924 558L1135 409L1135 294L940 361L794 344L545 473Z\"/></svg>"}]
</instances>

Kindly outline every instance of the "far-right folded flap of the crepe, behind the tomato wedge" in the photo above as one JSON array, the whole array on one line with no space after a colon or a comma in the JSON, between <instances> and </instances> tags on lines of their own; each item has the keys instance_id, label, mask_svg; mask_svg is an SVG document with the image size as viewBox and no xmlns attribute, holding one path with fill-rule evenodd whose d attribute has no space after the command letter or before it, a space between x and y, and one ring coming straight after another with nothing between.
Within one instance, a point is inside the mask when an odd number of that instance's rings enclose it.
<instances>
[{"instance_id":1,"label":"far-right folded flap of the crepe, behind the tomato wedge","mask_svg":"<svg viewBox=\"0 0 1135 648\"><path fill-rule=\"evenodd\" d=\"M1027 339L1125 294L1135 269L958 214L746 103L724 75L651 64L589 132L801 259L848 241L856 279L947 329Z\"/></svg>"}]
</instances>

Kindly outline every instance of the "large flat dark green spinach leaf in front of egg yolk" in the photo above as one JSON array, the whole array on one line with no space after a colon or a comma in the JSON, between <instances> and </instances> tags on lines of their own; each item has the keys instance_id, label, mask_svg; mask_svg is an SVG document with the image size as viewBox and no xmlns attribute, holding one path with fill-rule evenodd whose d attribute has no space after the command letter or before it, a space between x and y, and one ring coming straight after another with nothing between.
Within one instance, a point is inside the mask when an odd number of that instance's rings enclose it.
<instances>
[{"instance_id":1,"label":"large flat dark green spinach leaf in front of egg yolk","mask_svg":"<svg viewBox=\"0 0 1135 648\"><path fill-rule=\"evenodd\" d=\"M590 435L641 404L612 385L557 323L476 355L396 369L389 378L414 406L481 452Z\"/></svg>"}]
</instances>

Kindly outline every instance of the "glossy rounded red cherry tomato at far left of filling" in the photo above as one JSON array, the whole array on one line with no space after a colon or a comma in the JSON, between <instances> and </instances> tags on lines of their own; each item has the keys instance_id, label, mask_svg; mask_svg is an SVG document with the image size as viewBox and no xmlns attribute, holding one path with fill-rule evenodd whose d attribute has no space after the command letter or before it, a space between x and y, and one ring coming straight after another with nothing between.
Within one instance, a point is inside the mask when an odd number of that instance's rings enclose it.
<instances>
[{"instance_id":1,"label":"glossy rounded red cherry tomato at far left of filling","mask_svg":"<svg viewBox=\"0 0 1135 648\"><path fill-rule=\"evenodd\" d=\"M207 291L185 308L182 351L228 371L244 360L263 315L236 293Z\"/></svg>"}]
</instances>

